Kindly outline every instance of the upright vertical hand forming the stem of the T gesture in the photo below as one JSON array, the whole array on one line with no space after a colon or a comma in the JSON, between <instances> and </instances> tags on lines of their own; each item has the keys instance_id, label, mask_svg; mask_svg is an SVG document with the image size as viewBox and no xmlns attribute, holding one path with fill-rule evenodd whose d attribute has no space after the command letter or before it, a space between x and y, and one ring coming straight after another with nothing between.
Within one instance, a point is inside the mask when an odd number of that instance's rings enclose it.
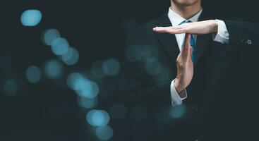
<instances>
[{"instance_id":1,"label":"upright vertical hand forming the stem of the T gesture","mask_svg":"<svg viewBox=\"0 0 259 141\"><path fill-rule=\"evenodd\" d=\"M180 93L191 82L193 78L193 61L191 61L192 47L190 44L191 35L186 34L183 48L176 59L177 76L174 80L174 87Z\"/></svg>"}]
</instances>

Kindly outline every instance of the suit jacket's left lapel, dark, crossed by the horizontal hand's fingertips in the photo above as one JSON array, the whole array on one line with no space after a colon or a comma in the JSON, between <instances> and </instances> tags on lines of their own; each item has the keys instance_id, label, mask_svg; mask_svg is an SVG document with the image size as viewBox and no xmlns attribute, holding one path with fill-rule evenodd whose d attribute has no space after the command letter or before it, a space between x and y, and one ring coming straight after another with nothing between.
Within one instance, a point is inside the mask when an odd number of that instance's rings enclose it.
<instances>
[{"instance_id":1,"label":"suit jacket's left lapel, dark, crossed by the horizontal hand's fingertips","mask_svg":"<svg viewBox=\"0 0 259 141\"><path fill-rule=\"evenodd\" d=\"M167 13L164 13L155 23L155 26L171 26L171 22L167 16ZM180 53L178 44L176 42L175 35L171 35L169 33L155 33L157 38L159 39L160 44L167 52L167 55L170 57L171 61L176 63L176 58Z\"/></svg>"}]
</instances>

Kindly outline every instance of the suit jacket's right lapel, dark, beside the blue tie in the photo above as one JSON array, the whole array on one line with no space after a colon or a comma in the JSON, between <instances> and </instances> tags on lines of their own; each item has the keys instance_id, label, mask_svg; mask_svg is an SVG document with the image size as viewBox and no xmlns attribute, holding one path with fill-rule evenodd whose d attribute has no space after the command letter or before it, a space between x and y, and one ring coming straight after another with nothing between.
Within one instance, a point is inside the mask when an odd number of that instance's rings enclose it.
<instances>
[{"instance_id":1,"label":"suit jacket's right lapel, dark, beside the blue tie","mask_svg":"<svg viewBox=\"0 0 259 141\"><path fill-rule=\"evenodd\" d=\"M210 19L209 16L203 11L203 13L200 15L199 21L201 20L208 20ZM198 63L200 56L203 54L203 51L207 47L207 44L210 42L210 39L212 39L211 34L208 35L197 35L196 39L196 54L195 54L195 62L194 64Z\"/></svg>"}]
</instances>

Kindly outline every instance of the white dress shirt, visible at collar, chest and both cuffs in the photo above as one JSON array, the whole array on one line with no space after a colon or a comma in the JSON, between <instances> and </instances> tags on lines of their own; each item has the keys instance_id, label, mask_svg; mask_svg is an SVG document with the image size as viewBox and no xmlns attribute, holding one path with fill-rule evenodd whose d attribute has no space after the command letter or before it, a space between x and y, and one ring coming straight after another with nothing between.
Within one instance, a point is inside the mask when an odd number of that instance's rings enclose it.
<instances>
[{"instance_id":1,"label":"white dress shirt, visible at collar, chest and both cuffs","mask_svg":"<svg viewBox=\"0 0 259 141\"><path fill-rule=\"evenodd\" d=\"M171 25L174 27L174 26L177 26L180 23L182 23L184 20L190 20L191 22L197 22L198 18L200 17L200 14L202 12L203 12L203 9L201 9L193 17L191 17L189 19L185 19L185 18L179 16L179 14L172 11L171 8L169 8L168 17L171 22ZM213 40L215 42L221 42L222 44L229 44L229 32L227 31L227 27L226 27L224 21L217 20L217 22L218 22L218 30L217 30L217 34L216 33L212 34ZM176 42L178 44L178 47L181 50L181 47L182 47L183 41L184 41L184 37L185 37L185 33L184 34L175 34L175 37L176 37ZM197 36L193 35L193 37L196 40ZM179 94L176 92L176 89L174 87L174 80L171 81L170 90L171 90L171 104L173 106L182 104L183 99L187 98L186 90L183 90Z\"/></svg>"}]
</instances>

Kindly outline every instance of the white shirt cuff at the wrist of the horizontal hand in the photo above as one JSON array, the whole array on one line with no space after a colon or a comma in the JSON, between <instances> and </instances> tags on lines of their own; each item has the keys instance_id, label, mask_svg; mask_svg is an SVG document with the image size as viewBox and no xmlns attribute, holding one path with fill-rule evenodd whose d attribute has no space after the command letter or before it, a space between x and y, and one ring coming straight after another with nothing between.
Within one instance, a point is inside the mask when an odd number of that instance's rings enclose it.
<instances>
[{"instance_id":1,"label":"white shirt cuff at the wrist of the horizontal hand","mask_svg":"<svg viewBox=\"0 0 259 141\"><path fill-rule=\"evenodd\" d=\"M222 44L229 44L229 32L227 31L226 24L223 20L217 20L217 24L217 33L212 33L213 40Z\"/></svg>"}]
</instances>

